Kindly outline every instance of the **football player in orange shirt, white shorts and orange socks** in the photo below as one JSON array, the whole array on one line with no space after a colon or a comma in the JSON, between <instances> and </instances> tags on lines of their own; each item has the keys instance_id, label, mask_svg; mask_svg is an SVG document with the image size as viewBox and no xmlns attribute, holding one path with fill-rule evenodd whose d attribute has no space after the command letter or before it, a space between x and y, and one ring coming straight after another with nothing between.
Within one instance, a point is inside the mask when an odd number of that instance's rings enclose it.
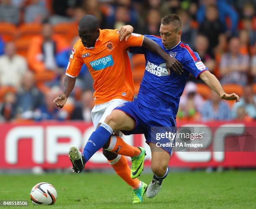
<instances>
[{"instance_id":1,"label":"football player in orange shirt, white shorts and orange socks","mask_svg":"<svg viewBox=\"0 0 256 209\"><path fill-rule=\"evenodd\" d=\"M166 61L166 69L181 73L182 66L173 57L166 54L163 49L154 41L136 33L132 33L127 40L120 40L126 33L118 30L101 30L99 28L98 20L93 15L85 15L79 21L78 34L80 39L75 43L70 55L69 64L66 71L63 93L54 99L57 107L62 108L67 102L69 94L74 88L76 77L83 64L87 68L94 80L94 101L95 107L92 109L92 122L96 129L102 124L105 118L112 112L112 110L124 104L125 102L133 101L134 84L131 72L130 61L126 49L130 46L143 46L159 54ZM129 32L127 33L129 34ZM96 145L96 149L103 146L103 154L108 159L110 165L115 172L123 178L132 188L133 203L141 202L142 196L146 189L146 184L139 181L138 178L131 178L131 169L128 166L125 154L130 153L132 156L132 166L138 165L136 159L144 161L145 150L141 147L133 147L123 143L122 138L117 135L111 136L111 141L115 141L118 153L109 152L108 149L113 150L111 143L105 145ZM132 154L131 154L132 153ZM86 161L90 159L89 156ZM73 165L73 170L77 173L81 172L86 161L76 161L75 158L69 155ZM138 170L133 167L133 170ZM142 170L141 170L142 171ZM136 173L136 177L141 173ZM144 188L144 189L141 189Z\"/></svg>"}]
</instances>

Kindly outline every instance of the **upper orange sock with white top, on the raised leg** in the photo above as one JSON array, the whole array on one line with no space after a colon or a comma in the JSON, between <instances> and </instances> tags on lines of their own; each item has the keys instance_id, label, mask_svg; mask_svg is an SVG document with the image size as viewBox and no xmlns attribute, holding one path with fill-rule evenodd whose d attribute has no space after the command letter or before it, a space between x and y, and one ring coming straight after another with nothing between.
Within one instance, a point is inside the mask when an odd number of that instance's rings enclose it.
<instances>
[{"instance_id":1,"label":"upper orange sock with white top, on the raised leg","mask_svg":"<svg viewBox=\"0 0 256 209\"><path fill-rule=\"evenodd\" d=\"M141 153L139 148L128 145L122 138L115 135L111 136L109 147L106 150L129 157L134 157Z\"/></svg>"}]
</instances>

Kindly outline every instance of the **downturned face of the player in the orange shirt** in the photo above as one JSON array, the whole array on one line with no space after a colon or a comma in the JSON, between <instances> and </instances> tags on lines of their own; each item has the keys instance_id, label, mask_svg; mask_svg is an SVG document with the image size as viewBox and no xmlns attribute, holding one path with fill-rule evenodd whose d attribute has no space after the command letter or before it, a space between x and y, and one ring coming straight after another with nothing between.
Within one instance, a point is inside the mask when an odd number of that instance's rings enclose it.
<instances>
[{"instance_id":1,"label":"downturned face of the player in the orange shirt","mask_svg":"<svg viewBox=\"0 0 256 209\"><path fill-rule=\"evenodd\" d=\"M99 37L99 30L89 31L78 28L78 35L81 38L84 47L94 47L97 38Z\"/></svg>"}]
</instances>

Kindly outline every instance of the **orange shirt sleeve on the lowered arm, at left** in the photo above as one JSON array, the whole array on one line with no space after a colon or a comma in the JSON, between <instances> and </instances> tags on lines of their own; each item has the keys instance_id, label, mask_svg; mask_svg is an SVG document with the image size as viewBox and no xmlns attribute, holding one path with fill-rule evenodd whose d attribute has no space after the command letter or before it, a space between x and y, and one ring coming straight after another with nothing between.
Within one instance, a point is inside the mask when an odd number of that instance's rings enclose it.
<instances>
[{"instance_id":1,"label":"orange shirt sleeve on the lowered arm, at left","mask_svg":"<svg viewBox=\"0 0 256 209\"><path fill-rule=\"evenodd\" d=\"M77 77L79 72L84 64L82 59L79 47L80 47L80 39L75 43L74 48L72 48L72 52L69 57L69 64L67 66L66 75L72 78Z\"/></svg>"}]
</instances>

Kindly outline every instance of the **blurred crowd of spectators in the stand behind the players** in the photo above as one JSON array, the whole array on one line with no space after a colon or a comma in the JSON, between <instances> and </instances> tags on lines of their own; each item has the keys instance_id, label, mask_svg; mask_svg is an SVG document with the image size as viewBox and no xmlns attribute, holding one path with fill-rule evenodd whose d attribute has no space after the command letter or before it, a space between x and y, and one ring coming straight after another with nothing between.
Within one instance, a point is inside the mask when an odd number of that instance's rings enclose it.
<instances>
[{"instance_id":1,"label":"blurred crowd of spectators in the stand behind the players","mask_svg":"<svg viewBox=\"0 0 256 209\"><path fill-rule=\"evenodd\" d=\"M191 76L177 120L256 120L255 8L256 0L0 0L0 121L90 122L93 81L85 65L64 108L53 104L79 38L79 19L92 14L102 29L129 24L136 33L159 36L161 18L170 13L182 19L182 42L199 54L228 93L241 96L239 103L220 100ZM28 31L36 30L35 25L40 31L29 38L25 33L20 39L6 38L3 23L20 33L31 24ZM69 36L58 33L60 25L68 25ZM145 60L130 58L137 93Z\"/></svg>"}]
</instances>

